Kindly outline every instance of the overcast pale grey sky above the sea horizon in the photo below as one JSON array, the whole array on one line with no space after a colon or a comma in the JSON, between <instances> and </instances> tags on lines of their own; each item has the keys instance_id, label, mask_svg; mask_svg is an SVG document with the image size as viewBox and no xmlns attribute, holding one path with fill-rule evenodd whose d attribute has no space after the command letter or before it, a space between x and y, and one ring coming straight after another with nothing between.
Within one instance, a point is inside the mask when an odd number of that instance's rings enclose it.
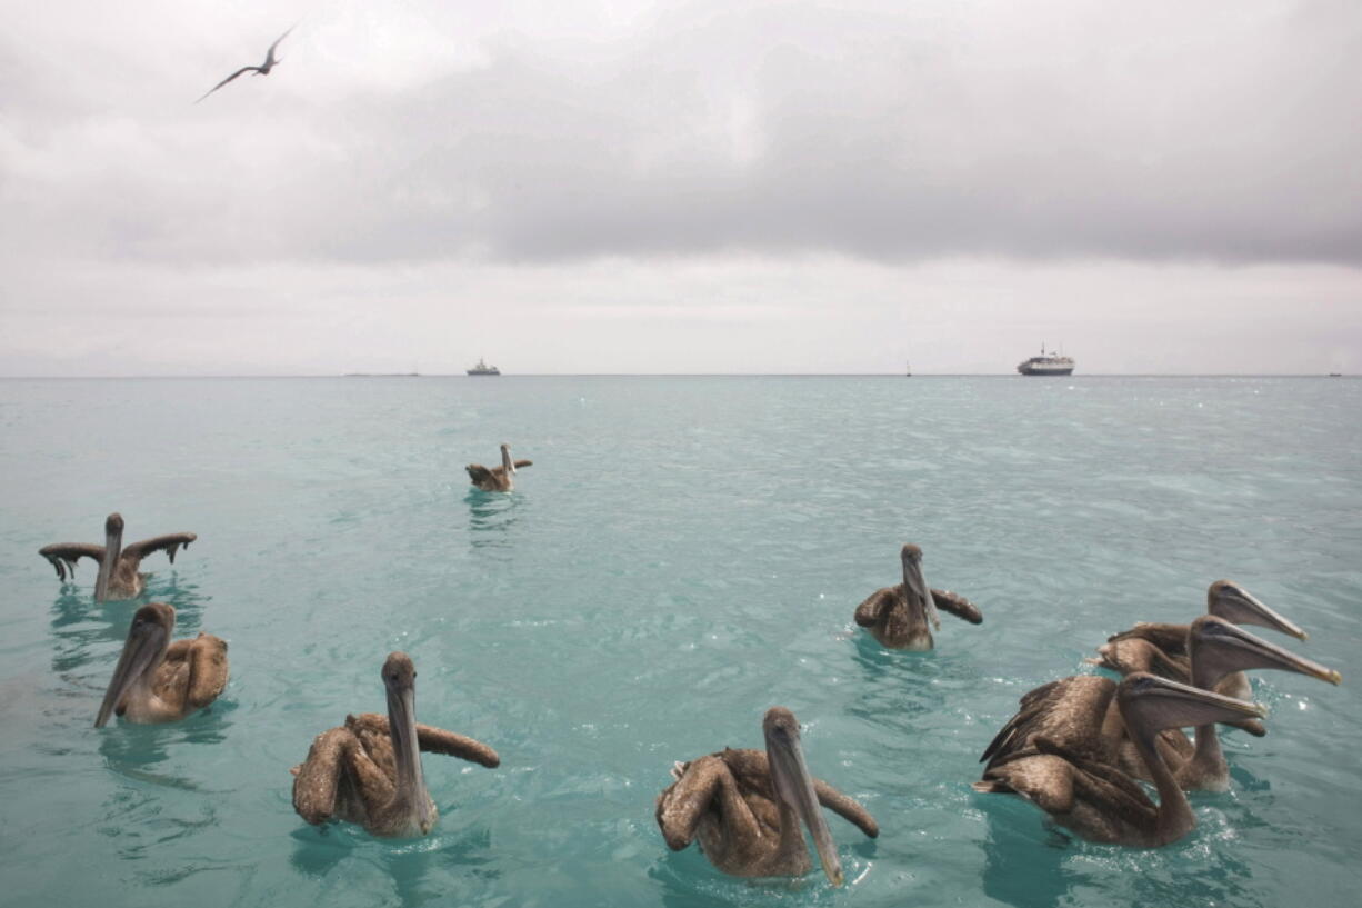
<instances>
[{"instance_id":1,"label":"overcast pale grey sky above the sea horizon","mask_svg":"<svg viewBox=\"0 0 1362 908\"><path fill-rule=\"evenodd\" d=\"M61 0L0 30L0 375L1007 372L1042 341L1362 372L1362 3Z\"/></svg>"}]
</instances>

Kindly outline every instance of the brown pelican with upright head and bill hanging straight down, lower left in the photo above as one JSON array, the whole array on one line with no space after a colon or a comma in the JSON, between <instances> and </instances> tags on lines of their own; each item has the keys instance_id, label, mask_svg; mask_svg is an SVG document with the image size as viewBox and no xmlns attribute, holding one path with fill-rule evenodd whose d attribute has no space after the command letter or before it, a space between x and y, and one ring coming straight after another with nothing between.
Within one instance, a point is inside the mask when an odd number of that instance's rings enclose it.
<instances>
[{"instance_id":1,"label":"brown pelican with upright head and bill hanging straight down, lower left","mask_svg":"<svg viewBox=\"0 0 1362 908\"><path fill-rule=\"evenodd\" d=\"M345 725L321 732L308 758L290 772L293 808L313 825L349 819L369 833L417 837L439 815L421 772L422 750L484 766L501 758L479 740L421 725L415 713L417 669L406 653L388 653L383 686L388 716L346 716Z\"/></svg>"}]
</instances>

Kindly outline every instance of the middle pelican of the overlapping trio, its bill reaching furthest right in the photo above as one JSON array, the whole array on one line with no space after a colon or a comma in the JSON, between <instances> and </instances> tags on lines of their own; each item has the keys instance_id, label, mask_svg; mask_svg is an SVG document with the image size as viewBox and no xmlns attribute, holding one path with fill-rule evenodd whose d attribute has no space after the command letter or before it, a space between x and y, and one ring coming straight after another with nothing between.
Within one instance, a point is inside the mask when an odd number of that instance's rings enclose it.
<instances>
[{"instance_id":1,"label":"middle pelican of the overlapping trio, its bill reaching furthest right","mask_svg":"<svg viewBox=\"0 0 1362 908\"><path fill-rule=\"evenodd\" d=\"M1216 682L1224 675L1244 668L1276 668L1332 684L1343 680L1336 671L1301 659L1214 615L1203 615L1192 622L1188 634L1192 645L1192 683L1203 690L1216 690ZM1136 753L1120 710L1111 701L1115 690L1115 682L1095 675L1079 675L1036 687L1022 697L1022 708L1002 727L981 759L987 759L992 769L1034 748L1035 742L1045 738L1069 753L1081 753L1087 759L1118 766L1133 777L1148 780L1145 762ZM1261 735L1261 723L1249 721L1252 727L1248 731ZM1244 720L1230 724L1246 727ZM1160 731L1156 743L1160 757L1173 768L1185 791L1229 788L1230 770L1214 725L1197 728L1194 747L1175 728Z\"/></svg>"}]
</instances>

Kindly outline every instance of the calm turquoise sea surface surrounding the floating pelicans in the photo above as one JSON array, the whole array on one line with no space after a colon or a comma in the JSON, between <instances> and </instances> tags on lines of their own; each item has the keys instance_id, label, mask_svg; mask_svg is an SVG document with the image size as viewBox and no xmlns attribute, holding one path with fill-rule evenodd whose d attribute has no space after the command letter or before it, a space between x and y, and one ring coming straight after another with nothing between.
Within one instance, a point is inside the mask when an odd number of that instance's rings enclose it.
<instances>
[{"instance_id":1,"label":"calm turquoise sea surface surrounding the floating pelicans","mask_svg":"<svg viewBox=\"0 0 1362 908\"><path fill-rule=\"evenodd\" d=\"M0 380L0 904L1283 905L1362 883L1362 382L1279 378ZM507 440L512 495L471 492ZM193 530L138 601L35 554ZM888 653L851 612L898 581L979 604ZM971 791L1016 706L1136 619L1242 582L1343 687L1260 672L1269 735L1156 851L1064 843ZM230 644L210 710L91 728L142 601ZM1267 631L1264 631L1267 633ZM425 757L433 833L302 823L289 766L381 710L494 746ZM878 840L849 883L752 882L652 819L674 759L759 747L765 708Z\"/></svg>"}]
</instances>

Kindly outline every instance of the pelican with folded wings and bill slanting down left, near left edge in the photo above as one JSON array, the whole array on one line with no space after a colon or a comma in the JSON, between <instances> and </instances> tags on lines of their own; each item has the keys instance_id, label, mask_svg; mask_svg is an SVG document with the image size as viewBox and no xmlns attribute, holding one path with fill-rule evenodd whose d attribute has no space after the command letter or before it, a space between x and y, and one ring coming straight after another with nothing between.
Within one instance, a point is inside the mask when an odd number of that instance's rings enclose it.
<instances>
[{"instance_id":1,"label":"pelican with folded wings and bill slanting down left, near left edge","mask_svg":"<svg viewBox=\"0 0 1362 908\"><path fill-rule=\"evenodd\" d=\"M218 698L227 686L226 642L199 634L172 644L172 634L174 608L148 603L138 609L95 728L112 714L129 723L173 723Z\"/></svg>"}]
</instances>

